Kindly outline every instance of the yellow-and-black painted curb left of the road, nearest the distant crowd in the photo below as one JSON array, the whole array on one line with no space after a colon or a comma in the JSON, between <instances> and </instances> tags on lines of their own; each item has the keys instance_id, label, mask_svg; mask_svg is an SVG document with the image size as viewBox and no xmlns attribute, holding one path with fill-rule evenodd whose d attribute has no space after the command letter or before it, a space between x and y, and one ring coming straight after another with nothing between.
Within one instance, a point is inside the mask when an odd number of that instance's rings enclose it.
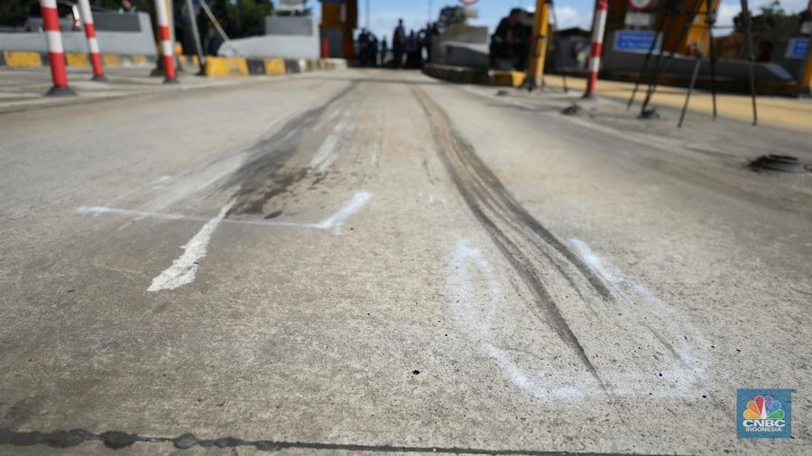
<instances>
[{"instance_id":1,"label":"yellow-and-black painted curb left of the road, nearest the distant crowd","mask_svg":"<svg viewBox=\"0 0 812 456\"><path fill-rule=\"evenodd\" d=\"M280 76L291 73L346 69L346 59L246 59L208 57L204 74L213 78L233 76Z\"/></svg>"}]
</instances>

